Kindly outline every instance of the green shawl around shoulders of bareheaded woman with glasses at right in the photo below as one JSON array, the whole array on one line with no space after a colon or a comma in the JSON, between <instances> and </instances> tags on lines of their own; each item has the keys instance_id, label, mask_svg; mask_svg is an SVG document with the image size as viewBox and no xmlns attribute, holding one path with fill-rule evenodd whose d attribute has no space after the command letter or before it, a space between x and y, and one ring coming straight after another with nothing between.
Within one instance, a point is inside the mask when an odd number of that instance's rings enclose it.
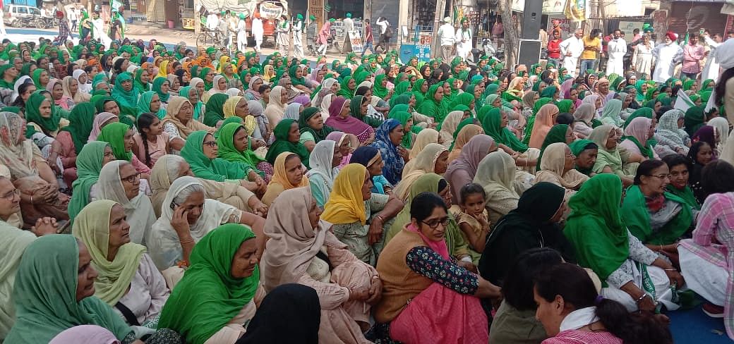
<instances>
[{"instance_id":1,"label":"green shawl around shoulders of bareheaded woman with glasses at right","mask_svg":"<svg viewBox=\"0 0 734 344\"><path fill-rule=\"evenodd\" d=\"M669 192L664 192L666 200L678 202L682 205L680 212L663 227L653 230L650 226L650 212L647 211L647 201L639 186L633 185L627 189L625 200L622 202L622 221L630 230L632 235L642 241L643 244L667 245L672 244L686 233L693 222L691 207L685 200Z\"/></svg>"}]
</instances>

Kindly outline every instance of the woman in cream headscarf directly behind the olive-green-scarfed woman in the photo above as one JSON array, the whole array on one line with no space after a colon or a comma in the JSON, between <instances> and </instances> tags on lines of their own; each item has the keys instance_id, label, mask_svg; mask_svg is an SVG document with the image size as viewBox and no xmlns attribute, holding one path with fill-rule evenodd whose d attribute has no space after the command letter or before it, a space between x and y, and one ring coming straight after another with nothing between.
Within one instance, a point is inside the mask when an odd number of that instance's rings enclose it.
<instances>
[{"instance_id":1,"label":"woman in cream headscarf directly behind the olive-green-scarfed woman","mask_svg":"<svg viewBox=\"0 0 734 344\"><path fill-rule=\"evenodd\" d=\"M421 151L413 162L413 169L403 169L403 178L395 188L395 195L399 200L406 200L410 193L410 188L418 180L421 175L426 173L435 173L443 175L448 168L448 149L443 144L431 143Z\"/></svg>"}]
</instances>

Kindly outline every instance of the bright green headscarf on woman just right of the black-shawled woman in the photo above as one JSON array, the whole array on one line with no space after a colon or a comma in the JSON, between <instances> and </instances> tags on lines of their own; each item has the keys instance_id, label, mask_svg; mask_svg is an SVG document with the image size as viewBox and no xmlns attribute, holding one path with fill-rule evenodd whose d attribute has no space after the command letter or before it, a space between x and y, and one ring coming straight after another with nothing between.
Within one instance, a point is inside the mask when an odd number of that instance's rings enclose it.
<instances>
[{"instance_id":1,"label":"bright green headscarf on woman just right of the black-shawled woman","mask_svg":"<svg viewBox=\"0 0 734 344\"><path fill-rule=\"evenodd\" d=\"M600 173L586 180L568 202L571 214L564 235L573 245L579 265L591 268L603 286L630 255L627 228L619 211L621 200L622 180Z\"/></svg>"}]
</instances>

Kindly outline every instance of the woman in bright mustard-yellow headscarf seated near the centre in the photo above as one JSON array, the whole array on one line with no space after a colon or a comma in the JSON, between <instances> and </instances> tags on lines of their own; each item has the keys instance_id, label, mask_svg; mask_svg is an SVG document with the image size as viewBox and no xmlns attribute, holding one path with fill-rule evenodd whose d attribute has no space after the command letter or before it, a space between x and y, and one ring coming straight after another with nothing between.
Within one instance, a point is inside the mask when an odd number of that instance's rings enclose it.
<instances>
[{"instance_id":1,"label":"woman in bright mustard-yellow headscarf seated near the centre","mask_svg":"<svg viewBox=\"0 0 734 344\"><path fill-rule=\"evenodd\" d=\"M323 219L333 224L336 237L349 245L349 251L374 266L382 250L386 228L402 209L394 197L372 194L371 178L365 166L344 166L334 180ZM379 213L378 213L379 211Z\"/></svg>"}]
</instances>

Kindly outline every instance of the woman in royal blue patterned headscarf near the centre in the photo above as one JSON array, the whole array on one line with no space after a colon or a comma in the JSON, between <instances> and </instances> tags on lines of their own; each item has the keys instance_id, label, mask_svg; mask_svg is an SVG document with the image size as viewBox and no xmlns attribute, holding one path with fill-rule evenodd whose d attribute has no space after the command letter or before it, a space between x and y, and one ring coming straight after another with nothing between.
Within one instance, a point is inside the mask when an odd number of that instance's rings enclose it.
<instances>
[{"instance_id":1,"label":"woman in royal blue patterned headscarf near the centre","mask_svg":"<svg viewBox=\"0 0 734 344\"><path fill-rule=\"evenodd\" d=\"M403 126L398 120L385 120L377 128L375 141L370 144L370 147L377 148L382 155L384 164L382 175L393 186L401 180L405 161L409 154L409 151L400 145L404 134Z\"/></svg>"}]
</instances>

